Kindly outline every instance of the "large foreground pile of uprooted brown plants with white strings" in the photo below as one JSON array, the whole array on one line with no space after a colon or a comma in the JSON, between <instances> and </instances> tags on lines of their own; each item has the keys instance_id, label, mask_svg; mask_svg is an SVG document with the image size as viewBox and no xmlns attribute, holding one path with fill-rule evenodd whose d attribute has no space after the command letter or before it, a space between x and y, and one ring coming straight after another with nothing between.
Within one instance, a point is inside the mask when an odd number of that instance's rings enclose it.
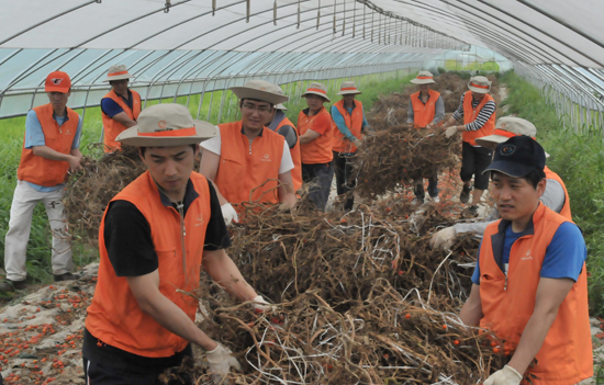
<instances>
[{"instance_id":1,"label":"large foreground pile of uprooted brown plants with white strings","mask_svg":"<svg viewBox=\"0 0 604 385\"><path fill-rule=\"evenodd\" d=\"M448 224L436 208L262 208L246 205L228 253L276 305L257 315L206 285L197 293L200 327L244 366L232 384L476 384L506 361L500 341L456 315L477 245L430 250L428 230ZM210 378L188 364L165 378L184 372Z\"/></svg>"}]
</instances>

